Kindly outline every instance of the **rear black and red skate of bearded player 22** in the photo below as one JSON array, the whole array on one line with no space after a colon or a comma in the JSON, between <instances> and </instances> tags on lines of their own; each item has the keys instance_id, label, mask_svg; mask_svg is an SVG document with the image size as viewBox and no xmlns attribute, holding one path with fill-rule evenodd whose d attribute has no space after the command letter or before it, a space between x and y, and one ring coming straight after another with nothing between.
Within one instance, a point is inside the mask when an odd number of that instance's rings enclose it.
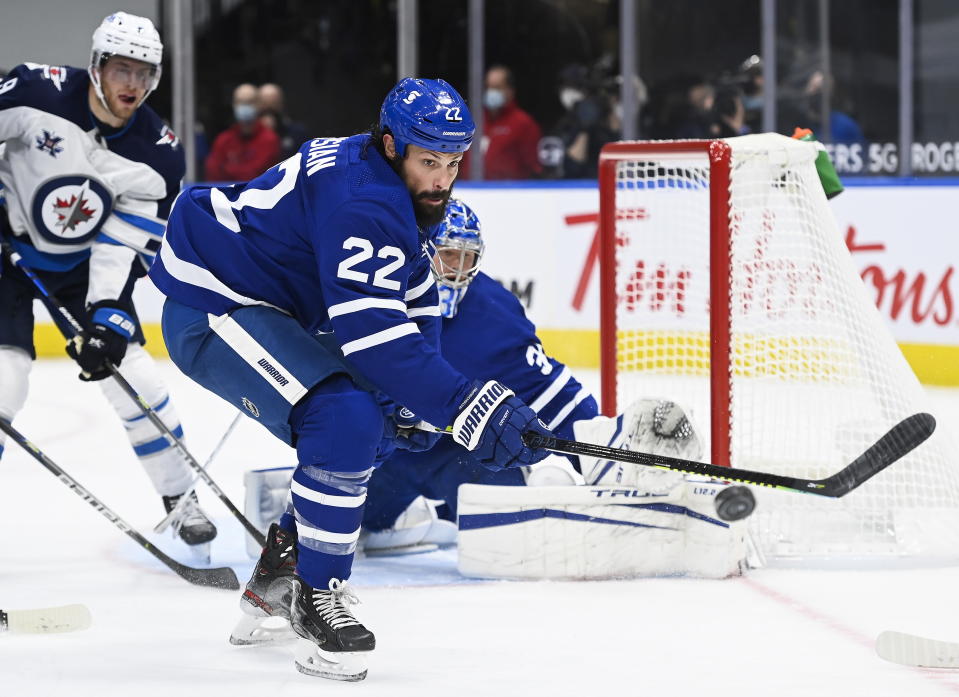
<instances>
[{"instance_id":1,"label":"rear black and red skate of bearded player 22","mask_svg":"<svg viewBox=\"0 0 959 697\"><path fill-rule=\"evenodd\" d=\"M255 646L296 638L289 625L295 572L296 535L273 523L240 598L244 616L230 634L231 644Z\"/></svg>"}]
</instances>

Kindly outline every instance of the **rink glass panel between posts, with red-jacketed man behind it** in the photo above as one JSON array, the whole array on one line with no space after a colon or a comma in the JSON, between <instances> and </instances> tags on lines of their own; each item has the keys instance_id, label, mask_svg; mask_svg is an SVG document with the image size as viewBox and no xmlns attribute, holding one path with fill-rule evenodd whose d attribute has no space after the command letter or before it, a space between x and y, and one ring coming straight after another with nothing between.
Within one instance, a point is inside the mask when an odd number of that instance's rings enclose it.
<instances>
[{"instance_id":1,"label":"rink glass panel between posts, with red-jacketed man behind it","mask_svg":"<svg viewBox=\"0 0 959 697\"><path fill-rule=\"evenodd\" d=\"M421 0L430 12L448 4ZM621 133L619 0L486 0L485 8L486 66L512 71L513 106L526 117L508 105L486 108L469 157L482 150L487 179L595 177L600 148ZM499 82L491 76L487 86L502 91ZM527 117L535 126L520 126Z\"/></svg>"}]
</instances>

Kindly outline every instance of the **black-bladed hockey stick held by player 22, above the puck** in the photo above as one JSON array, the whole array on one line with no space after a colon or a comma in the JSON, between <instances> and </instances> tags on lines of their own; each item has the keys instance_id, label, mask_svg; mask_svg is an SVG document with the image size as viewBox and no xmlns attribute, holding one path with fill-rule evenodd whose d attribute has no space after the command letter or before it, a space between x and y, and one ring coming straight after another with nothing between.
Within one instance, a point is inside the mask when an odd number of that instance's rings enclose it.
<instances>
[{"instance_id":1,"label":"black-bladed hockey stick held by player 22, above the puck","mask_svg":"<svg viewBox=\"0 0 959 697\"><path fill-rule=\"evenodd\" d=\"M862 455L825 479L800 479L769 472L720 467L719 465L681 460L665 455L649 455L631 450L609 448L604 445L547 437L530 431L523 434L523 442L531 448L543 448L565 455L586 455L587 457L629 462L635 465L658 467L659 469L687 474L699 474L724 481L839 498L913 450L931 436L935 430L936 420L931 414L913 414L893 426L886 435L876 441Z\"/></svg>"}]
</instances>

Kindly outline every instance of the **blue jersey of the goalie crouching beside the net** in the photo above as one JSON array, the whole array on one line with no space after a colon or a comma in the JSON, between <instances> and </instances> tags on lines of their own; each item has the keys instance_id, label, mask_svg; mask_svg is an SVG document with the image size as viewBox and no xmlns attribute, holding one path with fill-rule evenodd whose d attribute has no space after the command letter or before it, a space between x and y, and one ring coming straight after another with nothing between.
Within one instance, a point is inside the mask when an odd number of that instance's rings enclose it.
<instances>
[{"instance_id":1,"label":"blue jersey of the goalie crouching beside the net","mask_svg":"<svg viewBox=\"0 0 959 697\"><path fill-rule=\"evenodd\" d=\"M589 391L545 354L516 296L482 272L443 320L442 351L467 377L508 385L550 430L597 414Z\"/></svg>"}]
</instances>

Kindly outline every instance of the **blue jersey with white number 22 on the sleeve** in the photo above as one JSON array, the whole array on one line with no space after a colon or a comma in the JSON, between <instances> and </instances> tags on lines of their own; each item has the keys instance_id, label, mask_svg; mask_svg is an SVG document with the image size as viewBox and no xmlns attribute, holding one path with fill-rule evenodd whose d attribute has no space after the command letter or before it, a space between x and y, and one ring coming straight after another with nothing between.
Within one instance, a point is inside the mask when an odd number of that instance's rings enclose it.
<instances>
[{"instance_id":1,"label":"blue jersey with white number 22 on the sleeve","mask_svg":"<svg viewBox=\"0 0 959 697\"><path fill-rule=\"evenodd\" d=\"M316 138L248 183L184 191L150 277L213 315L267 305L332 335L359 376L446 426L471 381L439 352L426 237L369 140Z\"/></svg>"}]
</instances>

